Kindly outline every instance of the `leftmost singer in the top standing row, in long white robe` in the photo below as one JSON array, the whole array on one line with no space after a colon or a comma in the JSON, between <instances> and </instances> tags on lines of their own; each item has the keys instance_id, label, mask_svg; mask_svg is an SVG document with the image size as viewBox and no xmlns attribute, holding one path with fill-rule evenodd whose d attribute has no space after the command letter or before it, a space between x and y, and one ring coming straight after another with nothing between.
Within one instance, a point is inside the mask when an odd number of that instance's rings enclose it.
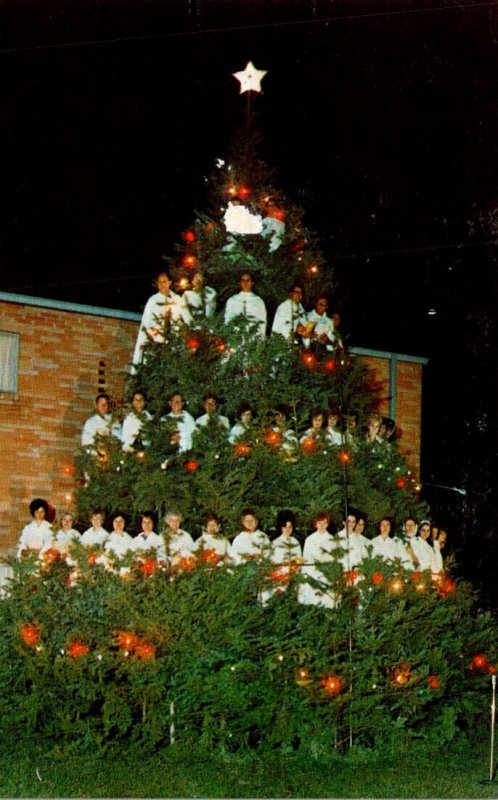
<instances>
[{"instance_id":1,"label":"leftmost singer in the top standing row, in long white robe","mask_svg":"<svg viewBox=\"0 0 498 800\"><path fill-rule=\"evenodd\" d=\"M181 323L192 324L192 316L188 307L182 302L180 295L171 291L172 280L163 270L156 279L157 293L153 294L145 304L140 323L140 330L133 353L133 365L141 364L148 342L164 344L170 326L178 328Z\"/></svg>"}]
</instances>

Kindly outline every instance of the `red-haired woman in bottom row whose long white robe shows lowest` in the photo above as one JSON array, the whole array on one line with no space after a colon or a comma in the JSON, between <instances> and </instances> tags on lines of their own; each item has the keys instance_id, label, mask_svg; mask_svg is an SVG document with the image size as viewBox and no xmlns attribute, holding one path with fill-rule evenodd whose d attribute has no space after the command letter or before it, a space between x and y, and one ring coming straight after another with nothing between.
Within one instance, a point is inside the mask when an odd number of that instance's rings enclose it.
<instances>
[{"instance_id":1,"label":"red-haired woman in bottom row whose long white robe shows lowest","mask_svg":"<svg viewBox=\"0 0 498 800\"><path fill-rule=\"evenodd\" d=\"M314 523L316 526L315 532L311 533L304 542L303 559L305 563L302 568L303 576L312 580L301 584L298 591L298 600L304 605L335 608L338 599L329 588L329 580L320 568L315 565L335 560L340 561L338 554L340 543L327 530L330 524L329 514L320 512L316 515Z\"/></svg>"}]
</instances>

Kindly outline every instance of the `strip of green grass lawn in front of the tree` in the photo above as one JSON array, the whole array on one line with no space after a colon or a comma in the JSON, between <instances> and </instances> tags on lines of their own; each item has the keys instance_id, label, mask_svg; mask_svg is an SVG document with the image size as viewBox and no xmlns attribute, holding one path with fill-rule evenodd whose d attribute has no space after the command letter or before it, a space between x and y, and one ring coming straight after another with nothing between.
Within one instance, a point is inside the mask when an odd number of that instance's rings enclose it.
<instances>
[{"instance_id":1,"label":"strip of green grass lawn in front of the tree","mask_svg":"<svg viewBox=\"0 0 498 800\"><path fill-rule=\"evenodd\" d=\"M351 754L214 755L179 746L147 755L61 752L33 739L0 745L2 797L413 797L496 798L489 745L448 745L403 757Z\"/></svg>"}]
</instances>

